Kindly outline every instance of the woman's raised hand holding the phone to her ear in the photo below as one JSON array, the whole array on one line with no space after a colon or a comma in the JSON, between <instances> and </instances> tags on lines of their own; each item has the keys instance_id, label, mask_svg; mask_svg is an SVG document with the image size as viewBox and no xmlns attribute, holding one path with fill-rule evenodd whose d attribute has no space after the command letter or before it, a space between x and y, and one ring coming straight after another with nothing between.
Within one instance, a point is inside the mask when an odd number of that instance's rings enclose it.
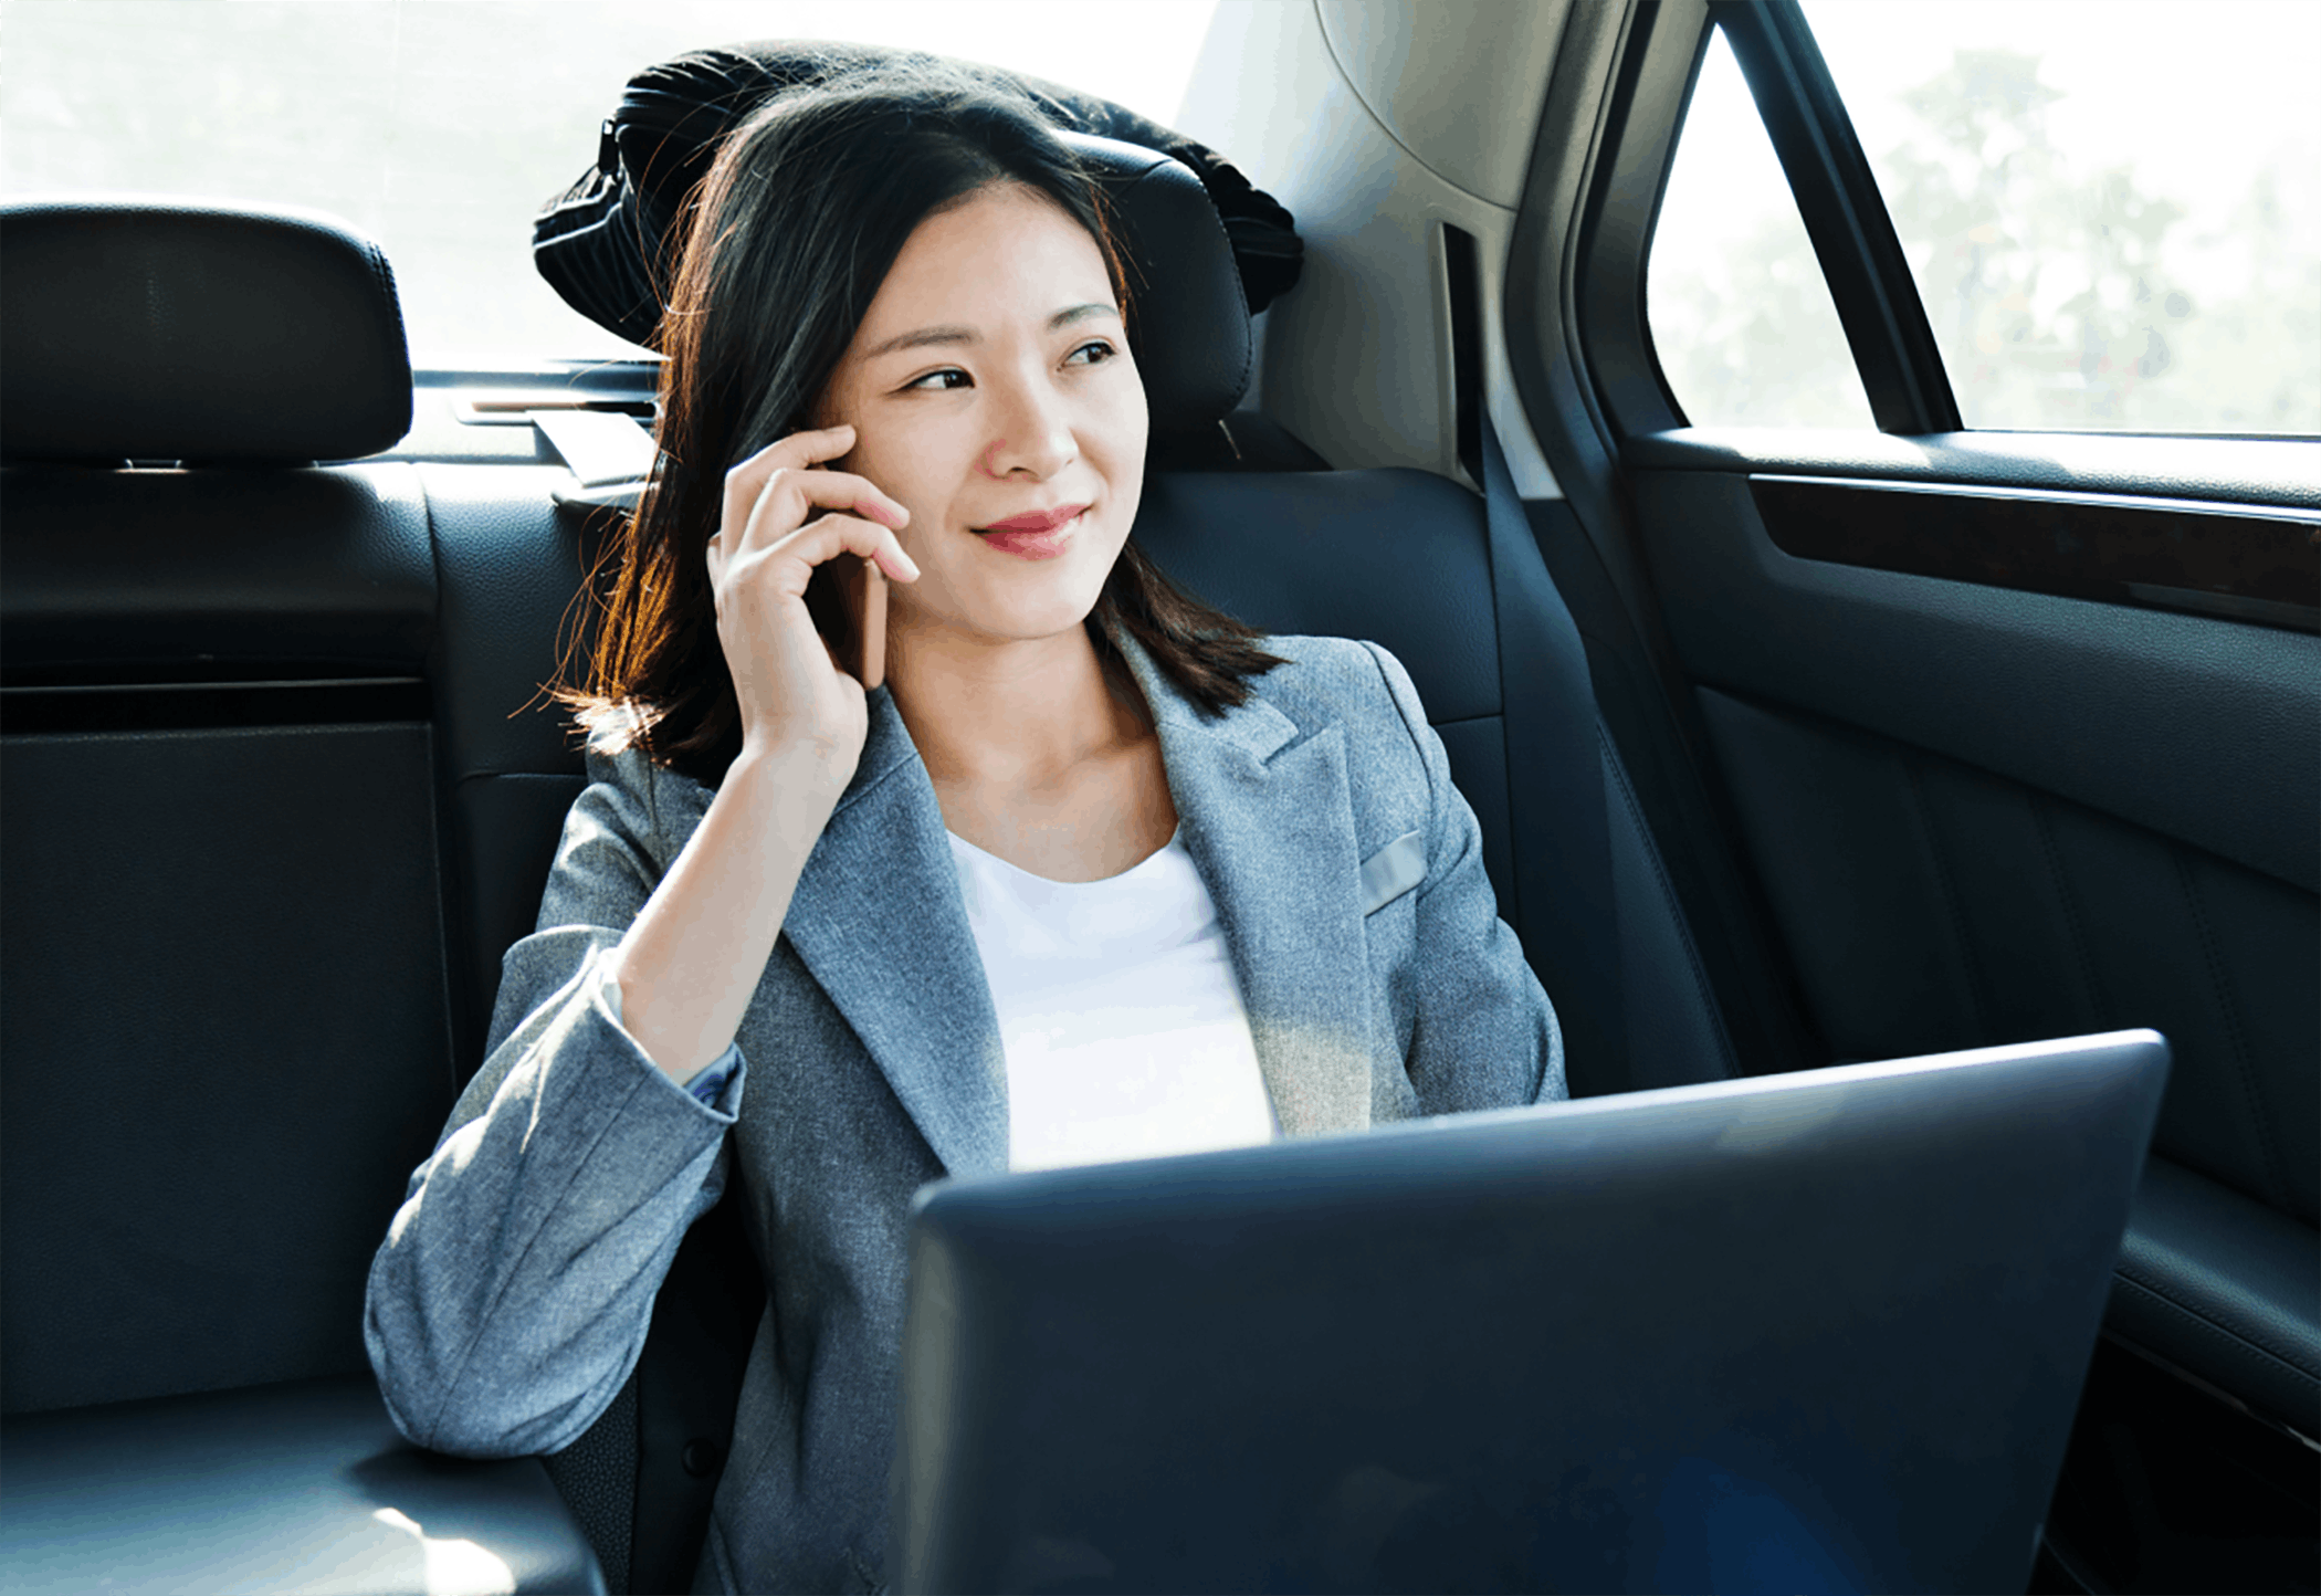
<instances>
[{"instance_id":1,"label":"woman's raised hand holding the phone to her ear","mask_svg":"<svg viewBox=\"0 0 2321 1596\"><path fill-rule=\"evenodd\" d=\"M815 566L840 554L875 559L896 582L919 578L894 536L910 510L866 478L810 469L849 448L852 427L794 431L726 471L724 522L708 545L743 756L812 754L840 784L861 759L870 710L861 682L815 631L805 582Z\"/></svg>"}]
</instances>

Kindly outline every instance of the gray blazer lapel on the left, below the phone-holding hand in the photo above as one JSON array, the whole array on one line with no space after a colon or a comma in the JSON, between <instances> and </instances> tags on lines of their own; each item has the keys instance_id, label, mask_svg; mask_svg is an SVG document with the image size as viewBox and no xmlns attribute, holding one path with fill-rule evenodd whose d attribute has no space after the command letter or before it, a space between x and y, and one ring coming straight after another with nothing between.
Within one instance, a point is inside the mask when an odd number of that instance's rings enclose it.
<instances>
[{"instance_id":1,"label":"gray blazer lapel on the left, below the phone-holding hand","mask_svg":"<svg viewBox=\"0 0 2321 1596\"><path fill-rule=\"evenodd\" d=\"M894 696L870 694L854 779L782 935L952 1174L1007 1167L1007 1060L942 807Z\"/></svg>"}]
</instances>

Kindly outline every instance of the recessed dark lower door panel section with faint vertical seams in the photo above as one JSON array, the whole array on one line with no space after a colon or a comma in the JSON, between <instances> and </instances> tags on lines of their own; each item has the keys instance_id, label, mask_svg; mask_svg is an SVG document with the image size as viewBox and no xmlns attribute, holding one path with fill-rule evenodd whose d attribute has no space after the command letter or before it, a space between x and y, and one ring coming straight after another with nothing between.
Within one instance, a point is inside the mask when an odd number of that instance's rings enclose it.
<instances>
[{"instance_id":1,"label":"recessed dark lower door panel section with faint vertical seams","mask_svg":"<svg viewBox=\"0 0 2321 1596\"><path fill-rule=\"evenodd\" d=\"M2309 893L1892 738L1701 701L1841 1058L2152 1025L2175 1049L2156 1151L2314 1223Z\"/></svg>"}]
</instances>

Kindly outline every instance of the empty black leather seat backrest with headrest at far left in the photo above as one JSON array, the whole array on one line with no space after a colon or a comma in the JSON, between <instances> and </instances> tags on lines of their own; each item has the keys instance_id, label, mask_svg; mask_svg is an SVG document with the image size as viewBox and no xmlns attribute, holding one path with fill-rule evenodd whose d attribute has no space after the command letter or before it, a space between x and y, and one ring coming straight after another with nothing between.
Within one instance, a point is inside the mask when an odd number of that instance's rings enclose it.
<instances>
[{"instance_id":1,"label":"empty black leather seat backrest with headrest at far left","mask_svg":"<svg viewBox=\"0 0 2321 1596\"><path fill-rule=\"evenodd\" d=\"M285 213L0 248L0 1406L360 1373L455 1086L436 573L418 471L292 462L408 427L392 278Z\"/></svg>"}]
</instances>

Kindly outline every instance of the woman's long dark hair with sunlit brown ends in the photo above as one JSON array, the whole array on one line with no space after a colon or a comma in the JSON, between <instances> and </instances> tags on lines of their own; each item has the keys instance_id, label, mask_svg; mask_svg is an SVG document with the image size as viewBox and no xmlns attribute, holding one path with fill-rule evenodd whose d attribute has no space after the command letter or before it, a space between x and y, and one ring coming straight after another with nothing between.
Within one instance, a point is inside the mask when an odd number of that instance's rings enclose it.
<instances>
[{"instance_id":1,"label":"woman's long dark hair with sunlit brown ends","mask_svg":"<svg viewBox=\"0 0 2321 1596\"><path fill-rule=\"evenodd\" d=\"M724 473L810 425L903 244L989 183L1024 183L1089 230L1135 334L1102 193L1028 100L940 67L889 67L791 90L726 139L694 197L661 320L659 464L590 582L601 615L585 682L557 689L592 747L641 747L682 775L724 777L740 712L703 554ZM824 575L805 603L843 650L849 622ZM1089 615L1098 659L1119 673L1114 624L1212 714L1284 663L1256 645L1263 633L1170 582L1135 538Z\"/></svg>"}]
</instances>

